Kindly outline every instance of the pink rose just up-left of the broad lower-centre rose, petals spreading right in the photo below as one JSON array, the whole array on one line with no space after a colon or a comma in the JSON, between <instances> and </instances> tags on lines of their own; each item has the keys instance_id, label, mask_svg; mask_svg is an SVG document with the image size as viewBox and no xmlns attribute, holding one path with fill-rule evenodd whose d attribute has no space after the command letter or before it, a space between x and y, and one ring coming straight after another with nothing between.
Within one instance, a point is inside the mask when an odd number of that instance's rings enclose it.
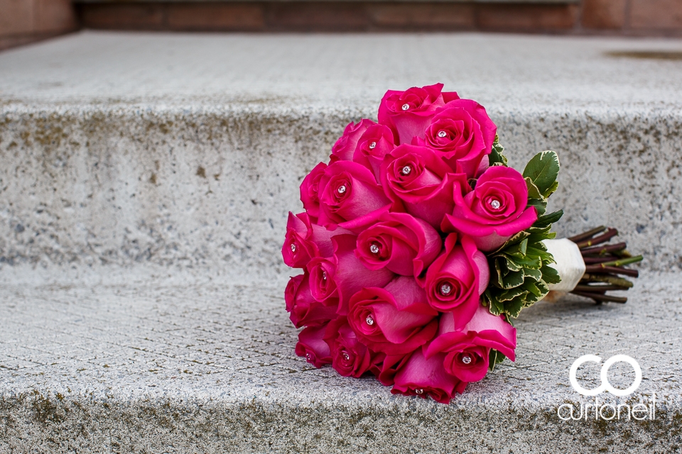
<instances>
[{"instance_id":1,"label":"pink rose just up-left of the broad lower-centre rose, petals spreading right","mask_svg":"<svg viewBox=\"0 0 682 454\"><path fill-rule=\"evenodd\" d=\"M316 300L328 306L338 301L339 315L348 313L348 301L360 289L384 287L395 276L386 269L367 270L355 257L356 242L354 235L337 235L332 238L332 258L313 258L308 263L310 292Z\"/></svg>"}]
</instances>

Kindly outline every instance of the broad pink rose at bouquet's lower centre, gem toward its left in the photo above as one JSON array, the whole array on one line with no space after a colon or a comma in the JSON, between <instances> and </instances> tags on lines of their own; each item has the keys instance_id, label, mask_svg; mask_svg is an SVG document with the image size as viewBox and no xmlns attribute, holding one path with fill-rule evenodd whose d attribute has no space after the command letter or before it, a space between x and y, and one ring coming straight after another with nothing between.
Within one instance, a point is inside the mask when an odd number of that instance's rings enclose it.
<instances>
[{"instance_id":1,"label":"broad pink rose at bouquet's lower centre, gem toward its left","mask_svg":"<svg viewBox=\"0 0 682 454\"><path fill-rule=\"evenodd\" d=\"M410 353L433 339L438 311L413 277L396 277L386 287L364 288L348 304L348 323L360 341L386 355Z\"/></svg>"}]
</instances>

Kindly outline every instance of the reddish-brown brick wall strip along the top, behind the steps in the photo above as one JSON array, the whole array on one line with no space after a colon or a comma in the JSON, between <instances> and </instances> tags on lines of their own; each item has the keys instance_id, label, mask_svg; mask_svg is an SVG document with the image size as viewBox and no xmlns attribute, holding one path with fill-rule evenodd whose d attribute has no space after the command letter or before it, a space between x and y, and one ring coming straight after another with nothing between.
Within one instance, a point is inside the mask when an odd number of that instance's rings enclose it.
<instances>
[{"instance_id":1,"label":"reddish-brown brick wall strip along the top, behind the steps","mask_svg":"<svg viewBox=\"0 0 682 454\"><path fill-rule=\"evenodd\" d=\"M77 28L682 36L682 0L0 0L0 49Z\"/></svg>"}]
</instances>

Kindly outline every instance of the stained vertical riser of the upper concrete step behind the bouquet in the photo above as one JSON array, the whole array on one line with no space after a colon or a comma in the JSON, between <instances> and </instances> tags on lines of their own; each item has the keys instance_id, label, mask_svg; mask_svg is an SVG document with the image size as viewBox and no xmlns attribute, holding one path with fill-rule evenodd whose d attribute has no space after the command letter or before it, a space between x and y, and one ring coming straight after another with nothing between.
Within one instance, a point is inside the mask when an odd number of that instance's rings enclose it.
<instances>
[{"instance_id":1,"label":"stained vertical riser of the upper concrete step behind the bouquet","mask_svg":"<svg viewBox=\"0 0 682 454\"><path fill-rule=\"evenodd\" d=\"M489 113L514 167L558 151L560 235L608 224L644 267L682 264L679 113ZM0 260L288 272L279 250L298 184L361 116L372 110L5 106Z\"/></svg>"}]
</instances>

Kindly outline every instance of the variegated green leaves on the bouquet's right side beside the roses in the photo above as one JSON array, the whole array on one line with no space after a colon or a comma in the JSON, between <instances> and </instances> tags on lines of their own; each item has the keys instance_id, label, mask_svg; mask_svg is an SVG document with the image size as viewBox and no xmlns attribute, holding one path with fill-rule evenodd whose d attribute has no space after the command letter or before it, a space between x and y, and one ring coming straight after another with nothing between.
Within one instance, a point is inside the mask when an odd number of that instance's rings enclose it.
<instances>
[{"instance_id":1,"label":"variegated green leaves on the bouquet's right side beside the roses","mask_svg":"<svg viewBox=\"0 0 682 454\"><path fill-rule=\"evenodd\" d=\"M552 224L563 215L561 210L545 214L547 198L558 186L558 171L559 160L553 151L538 153L529 161L523 175L529 189L528 206L536 207L538 219L530 228L487 254L490 282L483 294L483 303L492 314L504 314L510 323L524 307L545 297L548 284L561 280L556 270L548 266L554 263L554 258L542 243L556 236L551 231ZM494 367L493 361L497 361L497 356L491 359L491 367Z\"/></svg>"}]
</instances>

